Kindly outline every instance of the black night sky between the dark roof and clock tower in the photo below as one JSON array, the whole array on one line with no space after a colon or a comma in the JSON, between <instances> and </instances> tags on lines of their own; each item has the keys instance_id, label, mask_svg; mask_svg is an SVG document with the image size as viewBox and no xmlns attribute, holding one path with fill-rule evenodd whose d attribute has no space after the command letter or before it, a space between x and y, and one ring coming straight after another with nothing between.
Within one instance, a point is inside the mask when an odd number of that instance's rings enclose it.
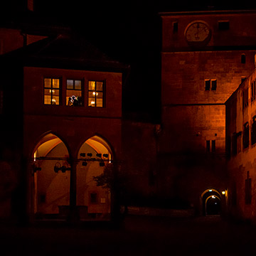
<instances>
[{"instance_id":1,"label":"black night sky between the dark roof and clock tower","mask_svg":"<svg viewBox=\"0 0 256 256\"><path fill-rule=\"evenodd\" d=\"M159 121L161 98L160 11L256 9L250 1L63 1L34 0L35 11L70 25L104 53L127 63L124 110Z\"/></svg>"}]
</instances>

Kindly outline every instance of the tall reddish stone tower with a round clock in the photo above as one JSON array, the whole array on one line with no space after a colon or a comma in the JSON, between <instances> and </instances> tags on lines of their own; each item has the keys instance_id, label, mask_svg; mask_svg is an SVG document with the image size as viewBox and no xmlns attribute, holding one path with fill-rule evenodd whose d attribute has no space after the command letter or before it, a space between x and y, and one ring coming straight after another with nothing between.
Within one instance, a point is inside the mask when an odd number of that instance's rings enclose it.
<instances>
[{"instance_id":1,"label":"tall reddish stone tower with a round clock","mask_svg":"<svg viewBox=\"0 0 256 256\"><path fill-rule=\"evenodd\" d=\"M159 194L198 214L225 213L225 101L255 70L256 12L160 15Z\"/></svg>"}]
</instances>

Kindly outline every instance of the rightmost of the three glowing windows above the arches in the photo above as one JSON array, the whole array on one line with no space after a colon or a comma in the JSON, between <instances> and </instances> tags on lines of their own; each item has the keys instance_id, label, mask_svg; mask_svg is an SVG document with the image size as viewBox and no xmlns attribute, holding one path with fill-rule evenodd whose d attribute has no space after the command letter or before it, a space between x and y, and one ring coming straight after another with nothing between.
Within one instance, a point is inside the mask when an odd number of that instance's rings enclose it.
<instances>
[{"instance_id":1,"label":"rightmost of the three glowing windows above the arches","mask_svg":"<svg viewBox=\"0 0 256 256\"><path fill-rule=\"evenodd\" d=\"M102 81L88 82L88 106L103 107L104 84Z\"/></svg>"}]
</instances>

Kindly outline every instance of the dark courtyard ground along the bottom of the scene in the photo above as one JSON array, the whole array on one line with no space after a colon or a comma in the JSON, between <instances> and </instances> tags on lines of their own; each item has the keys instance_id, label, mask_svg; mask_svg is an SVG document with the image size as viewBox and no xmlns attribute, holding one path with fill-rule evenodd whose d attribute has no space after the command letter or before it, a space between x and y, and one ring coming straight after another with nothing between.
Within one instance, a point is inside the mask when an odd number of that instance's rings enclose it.
<instances>
[{"instance_id":1,"label":"dark courtyard ground along the bottom of the scene","mask_svg":"<svg viewBox=\"0 0 256 256\"><path fill-rule=\"evenodd\" d=\"M0 255L256 255L256 227L219 217L128 216L124 226L0 229Z\"/></svg>"}]
</instances>

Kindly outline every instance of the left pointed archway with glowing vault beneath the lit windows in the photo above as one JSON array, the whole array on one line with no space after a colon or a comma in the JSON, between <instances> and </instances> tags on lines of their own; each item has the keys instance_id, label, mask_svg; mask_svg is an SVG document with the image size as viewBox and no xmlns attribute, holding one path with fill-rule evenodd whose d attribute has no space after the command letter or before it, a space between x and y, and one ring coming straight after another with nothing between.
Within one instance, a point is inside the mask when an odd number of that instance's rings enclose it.
<instances>
[{"instance_id":1,"label":"left pointed archway with glowing vault beneath the lit windows","mask_svg":"<svg viewBox=\"0 0 256 256\"><path fill-rule=\"evenodd\" d=\"M68 149L60 138L47 134L33 152L33 211L38 218L60 218L70 204Z\"/></svg>"}]
</instances>

